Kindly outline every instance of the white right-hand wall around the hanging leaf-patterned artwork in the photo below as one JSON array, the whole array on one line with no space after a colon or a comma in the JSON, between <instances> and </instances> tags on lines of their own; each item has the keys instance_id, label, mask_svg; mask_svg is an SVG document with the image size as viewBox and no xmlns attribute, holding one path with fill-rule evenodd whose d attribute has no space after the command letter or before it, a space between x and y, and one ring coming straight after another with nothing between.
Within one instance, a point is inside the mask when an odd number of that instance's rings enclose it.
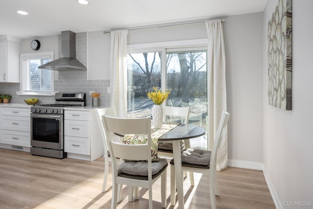
<instances>
[{"instance_id":1,"label":"white right-hand wall around the hanging leaf-patterned artwork","mask_svg":"<svg viewBox=\"0 0 313 209\"><path fill-rule=\"evenodd\" d=\"M267 28L277 2L278 0L268 0L264 11L265 175L277 208L312 208L313 1L292 1L291 111L269 106L267 100Z\"/></svg>"}]
</instances>

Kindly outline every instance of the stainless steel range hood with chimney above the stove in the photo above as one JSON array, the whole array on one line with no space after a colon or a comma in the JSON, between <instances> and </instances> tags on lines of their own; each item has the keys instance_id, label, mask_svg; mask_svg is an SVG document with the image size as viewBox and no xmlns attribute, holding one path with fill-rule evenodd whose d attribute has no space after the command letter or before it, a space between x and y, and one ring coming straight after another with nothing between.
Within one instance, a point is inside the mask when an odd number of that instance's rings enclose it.
<instances>
[{"instance_id":1,"label":"stainless steel range hood with chimney above the stove","mask_svg":"<svg viewBox=\"0 0 313 209\"><path fill-rule=\"evenodd\" d=\"M76 35L67 30L61 34L61 57L45 65L39 66L39 69L50 70L87 70L87 68L76 59Z\"/></svg>"}]
</instances>

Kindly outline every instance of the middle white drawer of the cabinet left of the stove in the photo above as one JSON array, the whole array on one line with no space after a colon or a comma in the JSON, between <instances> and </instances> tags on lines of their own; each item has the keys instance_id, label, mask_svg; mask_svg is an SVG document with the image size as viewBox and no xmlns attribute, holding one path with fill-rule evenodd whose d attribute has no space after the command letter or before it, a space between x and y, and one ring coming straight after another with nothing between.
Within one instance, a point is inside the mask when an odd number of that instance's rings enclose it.
<instances>
[{"instance_id":1,"label":"middle white drawer of the cabinet left of the stove","mask_svg":"<svg viewBox=\"0 0 313 209\"><path fill-rule=\"evenodd\" d=\"M1 116L1 129L30 132L30 117Z\"/></svg>"}]
</instances>

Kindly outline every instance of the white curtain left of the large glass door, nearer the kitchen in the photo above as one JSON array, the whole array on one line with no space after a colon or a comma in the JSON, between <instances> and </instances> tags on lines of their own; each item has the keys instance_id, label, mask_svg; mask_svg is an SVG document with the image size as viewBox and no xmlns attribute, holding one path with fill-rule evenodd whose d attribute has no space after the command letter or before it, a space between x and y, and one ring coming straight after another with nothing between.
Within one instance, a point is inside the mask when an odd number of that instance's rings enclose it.
<instances>
[{"instance_id":1,"label":"white curtain left of the large glass door, nearer the kitchen","mask_svg":"<svg viewBox=\"0 0 313 209\"><path fill-rule=\"evenodd\" d=\"M111 31L110 104L118 117L126 117L127 113L127 33Z\"/></svg>"}]
</instances>

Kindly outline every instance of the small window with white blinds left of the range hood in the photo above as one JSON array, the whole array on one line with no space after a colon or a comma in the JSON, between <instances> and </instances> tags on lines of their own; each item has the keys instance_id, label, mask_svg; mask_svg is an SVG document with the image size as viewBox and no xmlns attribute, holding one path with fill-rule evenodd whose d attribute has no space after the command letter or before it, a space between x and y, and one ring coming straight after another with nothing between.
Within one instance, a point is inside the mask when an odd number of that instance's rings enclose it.
<instances>
[{"instance_id":1,"label":"small window with white blinds left of the range hood","mask_svg":"<svg viewBox=\"0 0 313 209\"><path fill-rule=\"evenodd\" d=\"M38 69L51 60L53 60L53 52L21 54L22 94L53 94L53 71Z\"/></svg>"}]
</instances>

